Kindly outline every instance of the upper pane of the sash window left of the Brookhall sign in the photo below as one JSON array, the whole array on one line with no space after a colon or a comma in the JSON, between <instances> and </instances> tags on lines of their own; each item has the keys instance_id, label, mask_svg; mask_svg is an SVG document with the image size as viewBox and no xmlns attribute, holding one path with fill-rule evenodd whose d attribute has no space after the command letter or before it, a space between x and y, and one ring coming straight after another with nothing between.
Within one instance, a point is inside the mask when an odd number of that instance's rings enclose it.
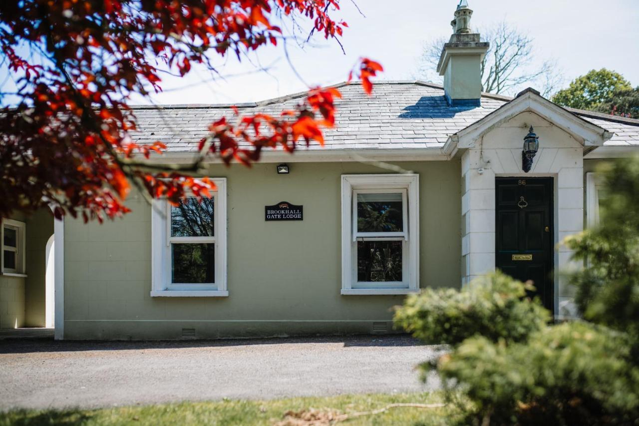
<instances>
[{"instance_id":1,"label":"upper pane of the sash window left of the Brookhall sign","mask_svg":"<svg viewBox=\"0 0 639 426\"><path fill-rule=\"evenodd\" d=\"M213 204L213 197L201 203L189 197L171 206L171 237L213 237Z\"/></svg>"}]
</instances>

